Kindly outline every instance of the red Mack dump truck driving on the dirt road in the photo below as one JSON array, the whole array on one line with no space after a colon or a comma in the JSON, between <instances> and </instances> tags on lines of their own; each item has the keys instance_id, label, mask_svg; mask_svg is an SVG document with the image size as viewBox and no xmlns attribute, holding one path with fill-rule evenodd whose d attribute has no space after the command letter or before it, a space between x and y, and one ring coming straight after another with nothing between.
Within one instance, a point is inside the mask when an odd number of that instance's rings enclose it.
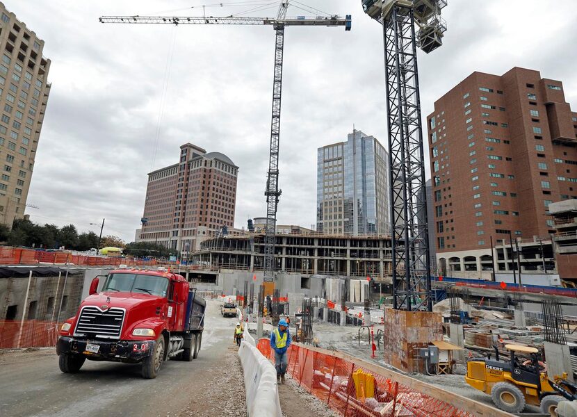
<instances>
[{"instance_id":1,"label":"red Mack dump truck driving on the dirt road","mask_svg":"<svg viewBox=\"0 0 577 417\"><path fill-rule=\"evenodd\" d=\"M204 299L173 272L125 269L96 277L76 316L60 328L60 370L76 373L86 359L140 362L143 377L155 378L163 361L197 357L205 310Z\"/></svg>"}]
</instances>

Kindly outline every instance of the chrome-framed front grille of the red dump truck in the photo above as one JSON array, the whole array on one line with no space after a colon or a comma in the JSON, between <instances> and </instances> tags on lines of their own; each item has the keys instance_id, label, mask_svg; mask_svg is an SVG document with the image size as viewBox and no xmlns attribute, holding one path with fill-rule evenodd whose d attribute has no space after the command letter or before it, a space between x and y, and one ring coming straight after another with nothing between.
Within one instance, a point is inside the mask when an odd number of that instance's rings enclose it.
<instances>
[{"instance_id":1,"label":"chrome-framed front grille of the red dump truck","mask_svg":"<svg viewBox=\"0 0 577 417\"><path fill-rule=\"evenodd\" d=\"M101 311L95 306L83 307L74 336L120 338L124 309L112 307Z\"/></svg>"}]
</instances>

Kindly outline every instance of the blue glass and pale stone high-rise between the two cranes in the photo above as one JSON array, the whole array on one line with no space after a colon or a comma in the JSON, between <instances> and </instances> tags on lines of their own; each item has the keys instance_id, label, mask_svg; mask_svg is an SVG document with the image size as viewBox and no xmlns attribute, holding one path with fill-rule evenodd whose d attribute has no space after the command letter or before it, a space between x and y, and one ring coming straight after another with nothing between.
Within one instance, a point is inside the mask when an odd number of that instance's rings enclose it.
<instances>
[{"instance_id":1,"label":"blue glass and pale stone high-rise between the two cranes","mask_svg":"<svg viewBox=\"0 0 577 417\"><path fill-rule=\"evenodd\" d=\"M326 234L389 234L389 156L373 136L318 148L316 227Z\"/></svg>"}]
</instances>

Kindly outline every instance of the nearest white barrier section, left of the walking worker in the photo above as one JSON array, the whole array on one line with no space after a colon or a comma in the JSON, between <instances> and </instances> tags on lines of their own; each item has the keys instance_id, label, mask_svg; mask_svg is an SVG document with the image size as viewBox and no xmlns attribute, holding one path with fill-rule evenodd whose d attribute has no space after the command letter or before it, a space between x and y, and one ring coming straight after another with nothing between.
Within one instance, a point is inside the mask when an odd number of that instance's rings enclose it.
<instances>
[{"instance_id":1,"label":"nearest white barrier section, left of the walking worker","mask_svg":"<svg viewBox=\"0 0 577 417\"><path fill-rule=\"evenodd\" d=\"M246 341L241 343L238 357L243 365L248 417L282 417L273 364Z\"/></svg>"}]
</instances>

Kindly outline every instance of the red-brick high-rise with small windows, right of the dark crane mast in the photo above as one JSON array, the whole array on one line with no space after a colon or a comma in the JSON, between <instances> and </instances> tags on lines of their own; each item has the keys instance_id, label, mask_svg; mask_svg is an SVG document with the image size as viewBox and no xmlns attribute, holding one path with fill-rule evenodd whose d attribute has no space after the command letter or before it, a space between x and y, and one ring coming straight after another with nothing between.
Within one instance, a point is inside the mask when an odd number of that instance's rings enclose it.
<instances>
[{"instance_id":1,"label":"red-brick high-rise with small windows, right of the dark crane mast","mask_svg":"<svg viewBox=\"0 0 577 417\"><path fill-rule=\"evenodd\" d=\"M440 263L486 269L491 238L553 233L548 205L577 198L576 137L562 83L538 71L473 72L437 100L428 142Z\"/></svg>"}]
</instances>

